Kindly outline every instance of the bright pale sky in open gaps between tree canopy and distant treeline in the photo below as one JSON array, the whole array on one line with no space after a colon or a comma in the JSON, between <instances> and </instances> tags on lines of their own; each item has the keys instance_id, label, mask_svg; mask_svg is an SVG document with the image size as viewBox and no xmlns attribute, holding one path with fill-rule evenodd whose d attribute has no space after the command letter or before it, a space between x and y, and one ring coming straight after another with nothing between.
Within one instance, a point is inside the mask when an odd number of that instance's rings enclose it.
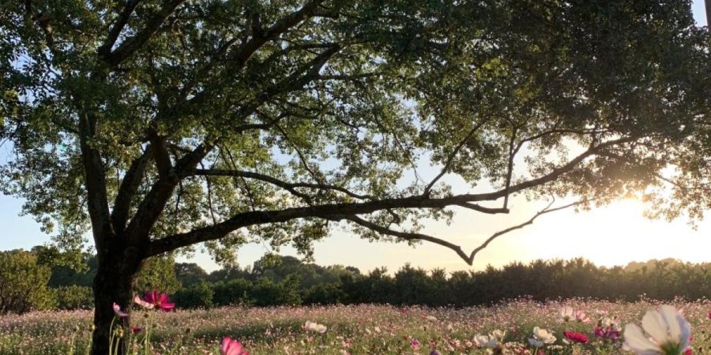
<instances>
[{"instance_id":1,"label":"bright pale sky in open gaps between tree canopy and distant treeline","mask_svg":"<svg viewBox=\"0 0 711 355\"><path fill-rule=\"evenodd\" d=\"M697 23L706 23L702 0L693 2ZM4 152L0 152L4 154ZM436 174L424 168L424 175ZM420 171L422 173L422 171ZM465 188L463 182L449 178L455 189ZM30 249L44 244L43 234L31 216L21 216L22 200L0 195L0 250ZM510 214L491 216L471 211L458 211L453 222L426 224L425 234L431 234L461 245L468 253L488 236L508 226L530 219L547 205L545 201L528 202L523 197L510 201ZM528 262L538 258L570 259L584 257L599 266L626 265L631 261L651 258L678 258L690 262L711 261L711 221L702 221L692 229L684 219L673 222L643 217L643 206L636 200L615 202L607 207L575 213L572 209L544 214L530 226L498 237L483 249L469 266L450 249L434 244L370 243L358 237L334 231L330 238L314 245L315 262L319 265L355 266L361 271L385 266L397 271L405 263L425 269L481 270L487 265L503 266L513 261ZM241 266L254 263L267 247L260 244L242 246L237 254ZM282 249L284 255L295 255L292 249ZM218 266L209 256L197 253L178 261L194 262L207 271Z\"/></svg>"}]
</instances>

